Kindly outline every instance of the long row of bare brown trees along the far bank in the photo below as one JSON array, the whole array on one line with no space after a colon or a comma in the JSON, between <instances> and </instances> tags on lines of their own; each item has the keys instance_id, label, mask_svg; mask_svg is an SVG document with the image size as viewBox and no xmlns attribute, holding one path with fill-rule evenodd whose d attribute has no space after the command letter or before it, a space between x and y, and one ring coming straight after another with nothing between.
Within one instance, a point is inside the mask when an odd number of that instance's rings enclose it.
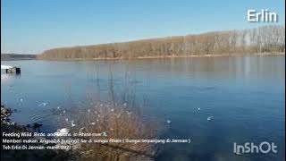
<instances>
[{"instance_id":1,"label":"long row of bare brown trees along the far bank","mask_svg":"<svg viewBox=\"0 0 286 161\"><path fill-rule=\"evenodd\" d=\"M62 47L38 55L44 60L88 60L215 55L269 55L285 52L285 26L213 31L82 47Z\"/></svg>"}]
</instances>

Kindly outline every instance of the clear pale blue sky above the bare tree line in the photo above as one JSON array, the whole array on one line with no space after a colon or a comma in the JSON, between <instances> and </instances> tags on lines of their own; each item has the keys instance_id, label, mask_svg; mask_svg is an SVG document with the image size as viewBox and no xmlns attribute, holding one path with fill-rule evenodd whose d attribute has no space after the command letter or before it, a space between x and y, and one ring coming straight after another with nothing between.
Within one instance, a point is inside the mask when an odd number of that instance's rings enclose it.
<instances>
[{"instance_id":1,"label":"clear pale blue sky above the bare tree line","mask_svg":"<svg viewBox=\"0 0 286 161\"><path fill-rule=\"evenodd\" d=\"M240 30L268 9L285 24L285 0L1 0L1 53Z\"/></svg>"}]
</instances>

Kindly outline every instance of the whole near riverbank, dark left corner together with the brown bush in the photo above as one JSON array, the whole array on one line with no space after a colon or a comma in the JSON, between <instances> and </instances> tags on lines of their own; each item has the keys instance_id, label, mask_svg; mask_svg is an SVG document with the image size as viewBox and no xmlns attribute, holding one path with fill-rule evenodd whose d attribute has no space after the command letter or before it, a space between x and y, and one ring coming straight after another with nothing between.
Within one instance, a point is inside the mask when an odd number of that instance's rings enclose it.
<instances>
[{"instance_id":1,"label":"whole near riverbank, dark left corner together with the brown bush","mask_svg":"<svg viewBox=\"0 0 286 161\"><path fill-rule=\"evenodd\" d=\"M92 112L95 113L91 114ZM1 132L3 133L2 143L4 144L1 148L1 158L4 159L13 157L15 160L17 158L48 160L53 157L55 160L71 160L71 158L75 160L82 160L83 158L86 160L106 160L106 158L108 158L107 160L150 160L156 156L157 146L155 144L124 144L111 141L126 137L155 137L154 131L156 130L150 129L151 126L143 123L137 112L128 110L124 105L112 106L111 104L94 103L88 110L79 109L73 115L74 120L71 119L71 122L65 120L60 123L64 128L59 125L61 129L55 132L57 133L55 139L49 138L53 136L41 133L35 128L30 129L28 126L11 122L9 119L11 114L13 114L12 109L1 105ZM79 118L76 118L77 116ZM30 135L23 135L22 133L30 133ZM64 133L71 135L65 136ZM74 133L79 133L79 135L75 136ZM79 142L78 140L92 140L90 137L95 136L81 136L80 133L100 134L96 136L97 140L108 141L104 143L97 141L92 143ZM43 136L38 134L43 134ZM62 139L62 141L54 142L57 139ZM69 140L76 141L69 142ZM17 151L16 154L14 154L15 150Z\"/></svg>"}]
</instances>

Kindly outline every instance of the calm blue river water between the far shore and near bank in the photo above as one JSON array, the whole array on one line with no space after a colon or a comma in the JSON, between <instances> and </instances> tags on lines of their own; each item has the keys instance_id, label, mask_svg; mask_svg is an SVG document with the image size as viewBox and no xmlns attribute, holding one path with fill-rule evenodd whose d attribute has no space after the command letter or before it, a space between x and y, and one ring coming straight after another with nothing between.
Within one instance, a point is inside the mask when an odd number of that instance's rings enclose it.
<instances>
[{"instance_id":1,"label":"calm blue river water between the far shore and near bank","mask_svg":"<svg viewBox=\"0 0 286 161\"><path fill-rule=\"evenodd\" d=\"M112 78L115 99L135 99L147 119L164 124L161 137L191 139L164 144L156 160L285 160L284 56L1 64L21 66L20 76L1 79L1 102L17 109L16 122L55 131L50 109L109 100ZM43 102L48 106L38 106ZM233 142L263 141L274 142L278 153L233 154Z\"/></svg>"}]
</instances>

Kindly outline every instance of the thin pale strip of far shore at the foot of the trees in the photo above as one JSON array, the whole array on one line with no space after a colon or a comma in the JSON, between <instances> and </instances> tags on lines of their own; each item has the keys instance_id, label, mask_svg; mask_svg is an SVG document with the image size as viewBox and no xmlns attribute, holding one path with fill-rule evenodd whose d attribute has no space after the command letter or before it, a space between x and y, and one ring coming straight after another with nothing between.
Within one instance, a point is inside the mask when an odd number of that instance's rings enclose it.
<instances>
[{"instance_id":1,"label":"thin pale strip of far shore at the foot of the trees","mask_svg":"<svg viewBox=\"0 0 286 161\"><path fill-rule=\"evenodd\" d=\"M91 60L137 60L137 59L164 59L164 58L189 58L189 57L227 57L227 56L269 56L285 55L285 53L255 53L255 54L223 54L223 55L164 55L164 56L139 56L139 57L97 57L74 59L38 59L44 61L91 61Z\"/></svg>"}]
</instances>

